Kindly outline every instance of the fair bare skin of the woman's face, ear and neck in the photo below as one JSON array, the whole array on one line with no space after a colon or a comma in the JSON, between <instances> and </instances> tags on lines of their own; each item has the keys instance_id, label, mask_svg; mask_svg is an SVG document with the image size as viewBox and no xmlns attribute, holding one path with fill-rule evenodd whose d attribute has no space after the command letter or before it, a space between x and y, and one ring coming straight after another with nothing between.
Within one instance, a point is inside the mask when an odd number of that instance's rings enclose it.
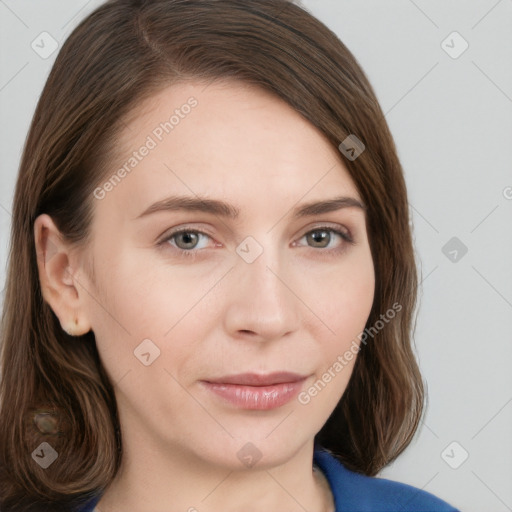
<instances>
[{"instance_id":1,"label":"fair bare skin of the woman's face, ear and neck","mask_svg":"<svg viewBox=\"0 0 512 512\"><path fill-rule=\"evenodd\" d=\"M198 104L190 114L103 199L92 198L87 248L66 244L46 214L34 224L44 298L63 327L76 318L77 334L93 330L116 393L123 462L98 508L333 509L325 480L312 471L313 441L355 357L305 405L241 409L199 381L286 370L307 375L307 390L350 348L374 296L364 210L307 218L291 211L361 198L343 157L311 123L268 92L229 81L173 85L139 105L108 176L191 96ZM224 200L240 217L162 211L137 219L171 194ZM330 231L323 242L317 232L306 236L325 225L354 243ZM158 245L185 226L207 236ZM263 249L252 263L236 252L247 236ZM178 256L187 247L194 259ZM160 350L149 366L134 356L144 339ZM237 457L248 442L261 453L252 467Z\"/></svg>"}]
</instances>

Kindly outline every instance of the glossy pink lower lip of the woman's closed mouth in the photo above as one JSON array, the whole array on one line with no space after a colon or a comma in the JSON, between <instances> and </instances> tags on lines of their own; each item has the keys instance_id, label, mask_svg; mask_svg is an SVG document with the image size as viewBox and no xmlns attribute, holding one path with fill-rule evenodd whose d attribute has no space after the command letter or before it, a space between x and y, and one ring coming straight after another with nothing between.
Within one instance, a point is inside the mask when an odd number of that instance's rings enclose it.
<instances>
[{"instance_id":1,"label":"glossy pink lower lip of the woman's closed mouth","mask_svg":"<svg viewBox=\"0 0 512 512\"><path fill-rule=\"evenodd\" d=\"M306 379L272 386L242 386L202 381L209 391L242 409L268 410L290 402Z\"/></svg>"}]
</instances>

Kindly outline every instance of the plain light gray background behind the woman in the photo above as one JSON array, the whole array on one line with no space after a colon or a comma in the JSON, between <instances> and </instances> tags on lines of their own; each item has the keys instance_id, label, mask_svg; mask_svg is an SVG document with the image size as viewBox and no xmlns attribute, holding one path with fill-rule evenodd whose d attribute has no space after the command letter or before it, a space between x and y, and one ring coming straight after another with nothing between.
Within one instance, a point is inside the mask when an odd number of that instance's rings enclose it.
<instances>
[{"instance_id":1,"label":"plain light gray background behind the woman","mask_svg":"<svg viewBox=\"0 0 512 512\"><path fill-rule=\"evenodd\" d=\"M43 59L31 43L43 31L61 43L100 3L0 0L2 285L19 158L56 55ZM416 344L430 403L414 442L381 476L463 511L512 511L512 1L302 5L367 73L414 213L423 280ZM441 46L453 31L469 44L458 58ZM456 249L457 261L442 251L452 237L468 248Z\"/></svg>"}]
</instances>

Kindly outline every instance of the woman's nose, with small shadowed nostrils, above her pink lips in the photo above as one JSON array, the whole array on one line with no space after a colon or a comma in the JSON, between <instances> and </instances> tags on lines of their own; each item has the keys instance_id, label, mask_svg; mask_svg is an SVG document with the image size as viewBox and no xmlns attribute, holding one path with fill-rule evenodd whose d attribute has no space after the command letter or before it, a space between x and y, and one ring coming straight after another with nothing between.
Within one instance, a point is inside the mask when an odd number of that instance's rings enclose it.
<instances>
[{"instance_id":1,"label":"woman's nose, with small shadowed nostrils, above her pink lips","mask_svg":"<svg viewBox=\"0 0 512 512\"><path fill-rule=\"evenodd\" d=\"M230 272L224 327L232 338L272 341L299 327L300 300L294 275L279 262L277 249L264 248L252 263L237 257Z\"/></svg>"}]
</instances>

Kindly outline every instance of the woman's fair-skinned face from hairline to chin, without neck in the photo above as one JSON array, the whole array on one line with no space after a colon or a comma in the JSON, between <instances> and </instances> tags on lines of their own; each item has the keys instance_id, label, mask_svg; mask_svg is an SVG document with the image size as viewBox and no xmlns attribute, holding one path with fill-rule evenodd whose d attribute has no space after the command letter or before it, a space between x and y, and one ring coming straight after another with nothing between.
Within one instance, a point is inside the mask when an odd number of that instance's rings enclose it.
<instances>
[{"instance_id":1,"label":"woman's fair-skinned face from hairline to chin, without neck","mask_svg":"<svg viewBox=\"0 0 512 512\"><path fill-rule=\"evenodd\" d=\"M174 85L137 110L94 192L94 281L78 276L124 442L234 466L312 441L373 301L358 201L337 150L260 89ZM204 382L274 372L304 380Z\"/></svg>"}]
</instances>

